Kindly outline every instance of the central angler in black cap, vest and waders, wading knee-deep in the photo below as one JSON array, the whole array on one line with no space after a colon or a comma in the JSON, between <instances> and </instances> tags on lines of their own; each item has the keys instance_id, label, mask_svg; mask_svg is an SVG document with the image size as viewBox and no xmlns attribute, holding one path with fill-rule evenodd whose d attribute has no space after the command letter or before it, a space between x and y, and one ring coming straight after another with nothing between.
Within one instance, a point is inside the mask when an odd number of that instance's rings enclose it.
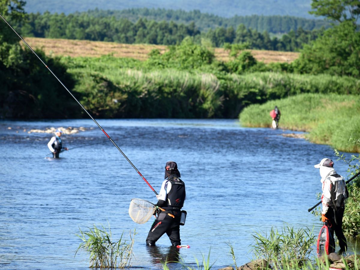
<instances>
[{"instance_id":1,"label":"central angler in black cap, vest and waders, wading knee-deep","mask_svg":"<svg viewBox=\"0 0 360 270\"><path fill-rule=\"evenodd\" d=\"M172 246L181 245L180 217L186 193L185 183L179 177L180 172L177 170L176 162L166 162L165 180L161 185L159 195L156 196L158 198L156 206L165 211L156 211L156 220L146 238L148 246L154 246L164 233L170 238Z\"/></svg>"}]
</instances>

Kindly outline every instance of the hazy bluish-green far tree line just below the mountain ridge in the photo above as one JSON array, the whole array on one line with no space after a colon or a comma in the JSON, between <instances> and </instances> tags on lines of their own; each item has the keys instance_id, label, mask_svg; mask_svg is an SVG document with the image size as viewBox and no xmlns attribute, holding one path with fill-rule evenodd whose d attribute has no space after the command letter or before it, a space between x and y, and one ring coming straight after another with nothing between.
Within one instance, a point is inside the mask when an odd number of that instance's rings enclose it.
<instances>
[{"instance_id":1,"label":"hazy bluish-green far tree line just below the mountain ridge","mask_svg":"<svg viewBox=\"0 0 360 270\"><path fill-rule=\"evenodd\" d=\"M239 16L235 15L230 18L220 17L214 14L201 13L200 10L172 10L164 8L131 8L123 10L101 10L94 9L88 10L87 14L97 17L112 17L117 19L126 18L135 23L140 18L146 18L148 20L154 20L157 22L167 21L175 22L177 24L195 23L195 26L200 31L208 31L209 29L215 29L217 27L228 28L230 26L237 28L239 24L244 24L246 28L252 28L258 32L269 32L273 34L288 33L291 30L297 30L302 28L303 30L314 30L324 27L329 28L331 24L328 21L321 19L306 19L298 18L287 15L249 15ZM78 13L81 14L81 13Z\"/></svg>"}]
</instances>

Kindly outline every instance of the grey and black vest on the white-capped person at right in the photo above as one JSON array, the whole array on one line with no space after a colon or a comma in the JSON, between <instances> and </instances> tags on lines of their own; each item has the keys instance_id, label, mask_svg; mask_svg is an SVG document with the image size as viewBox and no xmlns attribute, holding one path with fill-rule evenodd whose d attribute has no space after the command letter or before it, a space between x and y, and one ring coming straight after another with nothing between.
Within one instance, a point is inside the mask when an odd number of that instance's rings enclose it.
<instances>
[{"instance_id":1,"label":"grey and black vest on the white-capped person at right","mask_svg":"<svg viewBox=\"0 0 360 270\"><path fill-rule=\"evenodd\" d=\"M346 188L345 180L341 175L330 175L330 202L328 205L333 208L334 211L338 211L345 205L345 199L349 196Z\"/></svg>"}]
</instances>

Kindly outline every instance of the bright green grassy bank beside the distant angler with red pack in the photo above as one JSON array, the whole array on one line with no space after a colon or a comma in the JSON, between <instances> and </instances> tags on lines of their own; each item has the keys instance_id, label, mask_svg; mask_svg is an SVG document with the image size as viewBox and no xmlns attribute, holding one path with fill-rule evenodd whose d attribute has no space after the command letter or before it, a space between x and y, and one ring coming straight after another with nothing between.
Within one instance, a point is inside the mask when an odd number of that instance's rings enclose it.
<instances>
[{"instance_id":1,"label":"bright green grassy bank beside the distant angler with red pack","mask_svg":"<svg viewBox=\"0 0 360 270\"><path fill-rule=\"evenodd\" d=\"M240 122L249 127L270 127L269 112L281 111L279 127L309 131L313 143L329 144L346 152L358 152L350 138L360 138L360 96L339 94L300 94L253 104L240 113Z\"/></svg>"}]
</instances>

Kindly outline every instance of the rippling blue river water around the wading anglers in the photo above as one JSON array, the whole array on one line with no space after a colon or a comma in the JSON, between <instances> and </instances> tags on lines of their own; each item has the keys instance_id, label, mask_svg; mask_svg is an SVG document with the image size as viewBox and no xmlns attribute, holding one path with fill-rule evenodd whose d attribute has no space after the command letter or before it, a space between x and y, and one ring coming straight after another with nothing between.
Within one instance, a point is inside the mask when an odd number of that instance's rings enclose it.
<instances>
[{"instance_id":1,"label":"rippling blue river water around the wading anglers","mask_svg":"<svg viewBox=\"0 0 360 270\"><path fill-rule=\"evenodd\" d=\"M229 241L239 266L252 259L256 232L286 222L318 234L321 222L307 212L321 192L314 164L332 158L346 177L332 148L281 136L292 131L249 129L236 120L98 122L157 192L165 163L177 162L188 212L181 242L190 248L176 257L166 235L157 248L145 246L152 221L136 224L128 208L131 198L155 203L156 197L92 120L0 121L0 267L88 269L85 252L74 257L75 234L108 222L113 240L136 229L132 269L162 269L166 256L195 267L195 258L209 253L213 269L229 266ZM79 148L59 159L46 158L51 134L28 133L68 126L87 130L62 136L64 146Z\"/></svg>"}]
</instances>

